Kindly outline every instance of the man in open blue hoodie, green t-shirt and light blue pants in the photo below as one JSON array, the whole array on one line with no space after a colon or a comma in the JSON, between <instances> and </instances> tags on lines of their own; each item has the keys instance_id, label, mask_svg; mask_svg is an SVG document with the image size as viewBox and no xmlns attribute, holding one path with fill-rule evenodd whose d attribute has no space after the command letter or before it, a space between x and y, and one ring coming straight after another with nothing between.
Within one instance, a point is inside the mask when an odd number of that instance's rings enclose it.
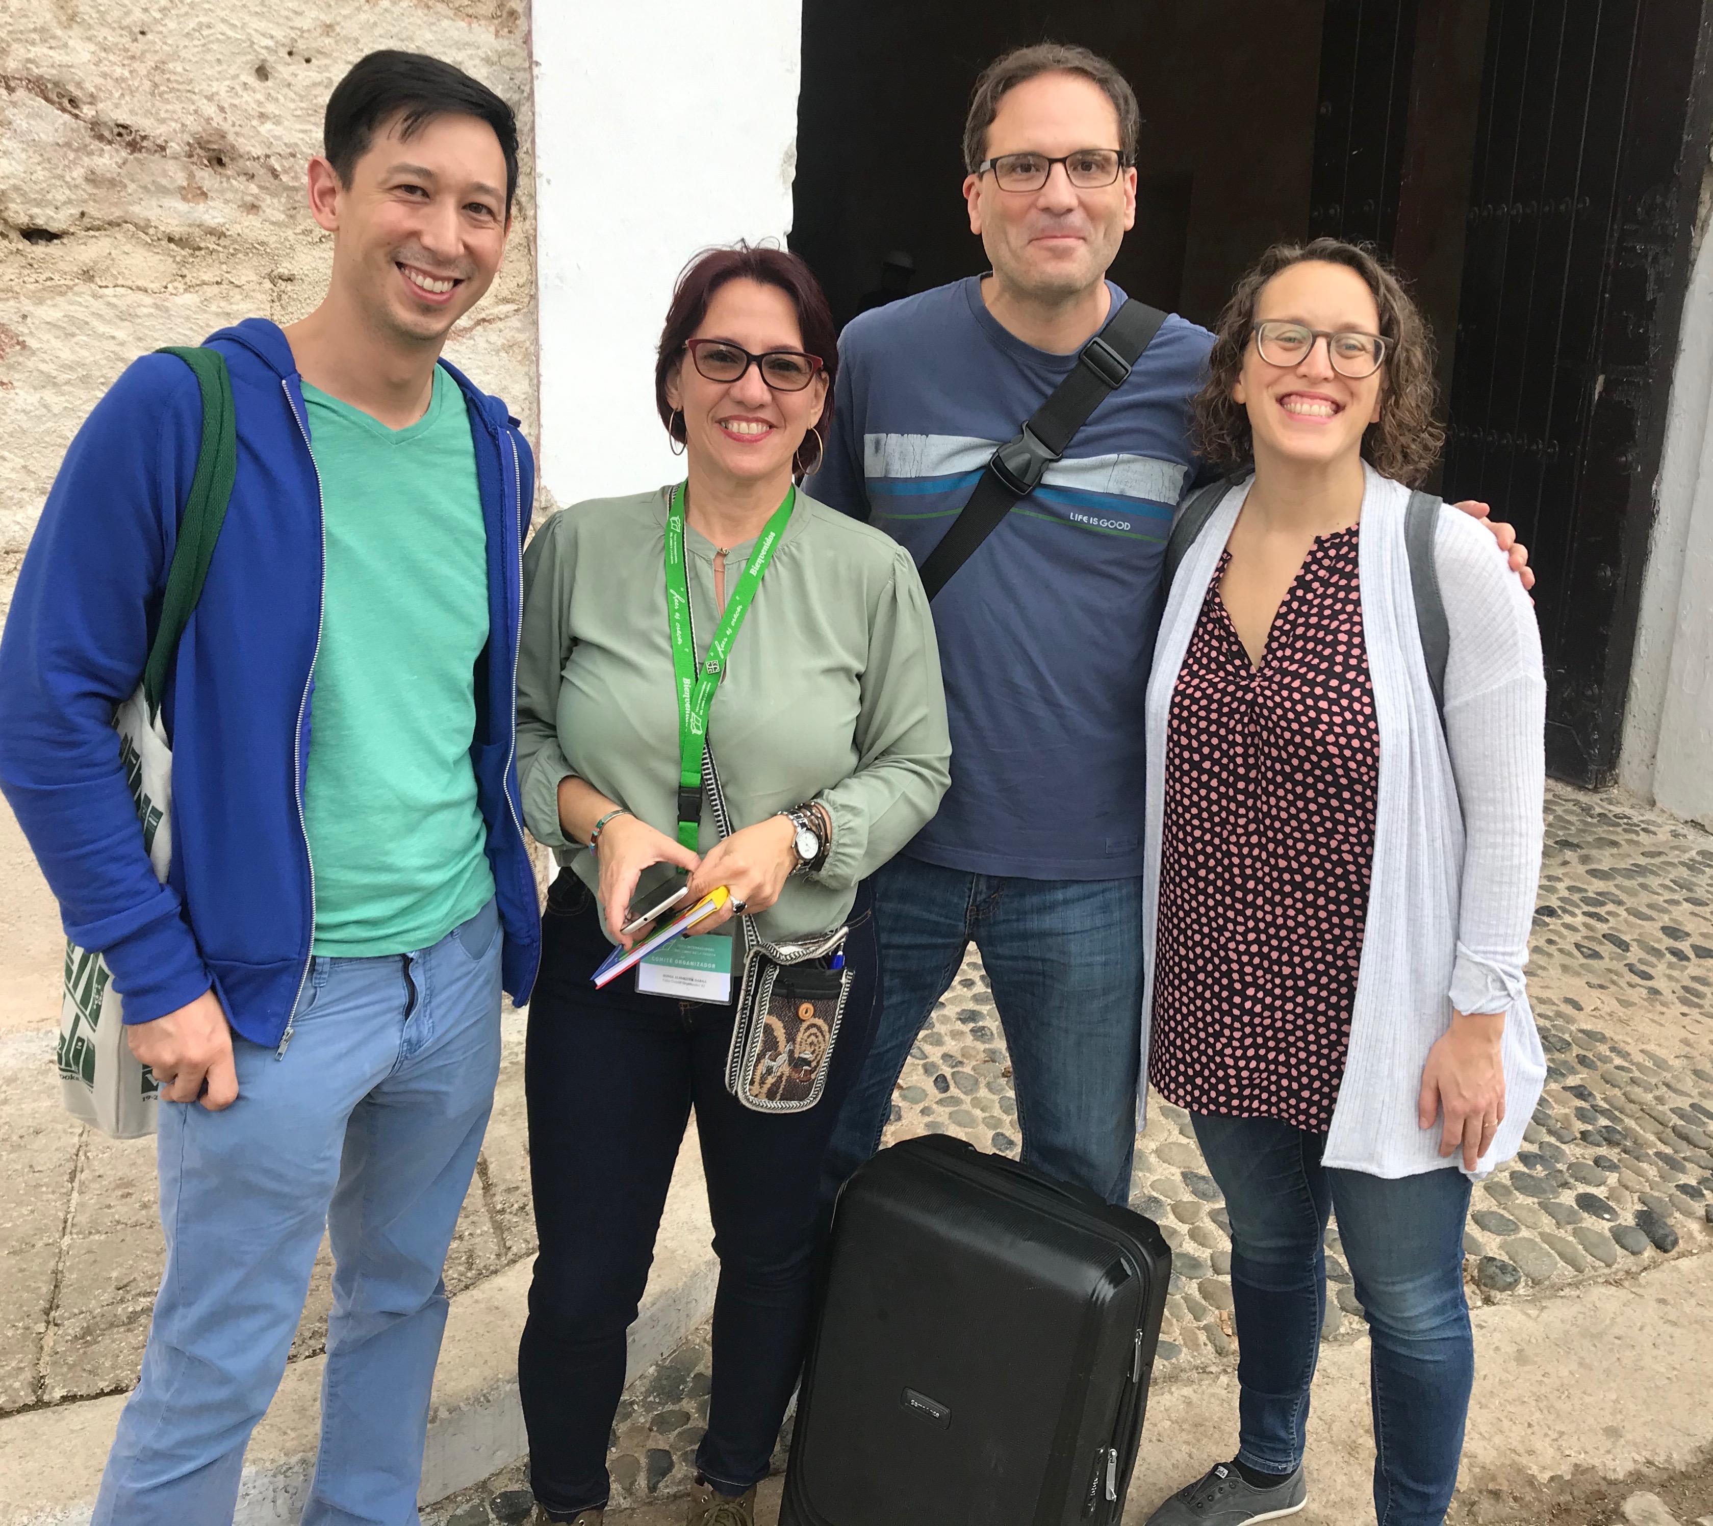
<instances>
[{"instance_id":1,"label":"man in open blue hoodie, green t-shirt and light blue pants","mask_svg":"<svg viewBox=\"0 0 1713 1526\"><path fill-rule=\"evenodd\" d=\"M113 730L159 618L199 389L132 365L79 432L0 641L0 788L161 1086L166 1271L99 1526L228 1523L332 1237L307 1523L415 1519L445 1250L534 980L514 665L533 462L440 361L517 185L510 108L372 53L327 103L322 305L207 343L238 478L170 677L171 875Z\"/></svg>"}]
</instances>

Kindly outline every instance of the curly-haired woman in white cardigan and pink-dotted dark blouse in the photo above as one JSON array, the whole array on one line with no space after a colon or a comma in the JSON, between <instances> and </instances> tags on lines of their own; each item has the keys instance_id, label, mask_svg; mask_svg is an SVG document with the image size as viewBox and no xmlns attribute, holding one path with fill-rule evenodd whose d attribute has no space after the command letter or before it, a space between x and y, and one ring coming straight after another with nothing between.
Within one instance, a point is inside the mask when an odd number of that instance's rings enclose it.
<instances>
[{"instance_id":1,"label":"curly-haired woman in white cardigan and pink-dotted dark blouse","mask_svg":"<svg viewBox=\"0 0 1713 1526\"><path fill-rule=\"evenodd\" d=\"M1179 567L1148 692L1143 1043L1230 1214L1240 1446L1149 1526L1302 1509L1333 1213L1374 1343L1376 1517L1437 1526L1458 1476L1470 1180L1545 1076L1545 683L1504 553L1441 507L1435 702L1405 546L1432 373L1396 277L1316 240L1238 284L1196 404L1209 457L1254 474Z\"/></svg>"}]
</instances>

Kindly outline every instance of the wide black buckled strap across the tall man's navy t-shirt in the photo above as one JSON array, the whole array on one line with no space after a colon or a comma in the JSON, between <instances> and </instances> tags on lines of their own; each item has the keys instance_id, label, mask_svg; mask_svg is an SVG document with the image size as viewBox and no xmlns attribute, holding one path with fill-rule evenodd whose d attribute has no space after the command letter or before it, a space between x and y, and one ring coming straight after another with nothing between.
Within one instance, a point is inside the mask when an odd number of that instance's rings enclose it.
<instances>
[{"instance_id":1,"label":"wide black buckled strap across the tall man's navy t-shirt","mask_svg":"<svg viewBox=\"0 0 1713 1526\"><path fill-rule=\"evenodd\" d=\"M922 563L922 586L932 599L952 574L970 560L1019 498L1040 485L1088 416L1131 375L1153 343L1167 315L1125 298L1124 305L1076 358L1076 365L1053 394L1035 409L1016 438L1000 445L987 462L951 529Z\"/></svg>"}]
</instances>

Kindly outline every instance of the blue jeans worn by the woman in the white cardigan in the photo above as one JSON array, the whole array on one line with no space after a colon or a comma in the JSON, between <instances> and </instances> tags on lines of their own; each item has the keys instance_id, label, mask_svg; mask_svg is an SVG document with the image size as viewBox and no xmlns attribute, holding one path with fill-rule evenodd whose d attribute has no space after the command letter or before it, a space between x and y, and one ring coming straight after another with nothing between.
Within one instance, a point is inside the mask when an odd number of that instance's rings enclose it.
<instances>
[{"instance_id":1,"label":"blue jeans worn by the woman in the white cardigan","mask_svg":"<svg viewBox=\"0 0 1713 1526\"><path fill-rule=\"evenodd\" d=\"M1458 1483L1475 1343L1463 1295L1470 1178L1384 1180L1321 1165L1324 1134L1278 1118L1191 1113L1232 1218L1237 1457L1268 1473L1302 1463L1326 1312L1328 1213L1369 1317L1374 1517L1439 1526Z\"/></svg>"}]
</instances>

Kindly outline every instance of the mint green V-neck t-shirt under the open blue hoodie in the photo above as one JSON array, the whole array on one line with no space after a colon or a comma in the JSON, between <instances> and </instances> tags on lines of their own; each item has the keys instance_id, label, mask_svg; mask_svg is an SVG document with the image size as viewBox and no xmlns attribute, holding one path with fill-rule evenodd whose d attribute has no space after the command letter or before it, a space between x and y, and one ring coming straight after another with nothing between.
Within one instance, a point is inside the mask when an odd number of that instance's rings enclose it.
<instances>
[{"instance_id":1,"label":"mint green V-neck t-shirt under the open blue hoodie","mask_svg":"<svg viewBox=\"0 0 1713 1526\"><path fill-rule=\"evenodd\" d=\"M464 397L403 430L303 384L327 541L303 808L315 952L427 949L493 894L469 745L488 641Z\"/></svg>"}]
</instances>

